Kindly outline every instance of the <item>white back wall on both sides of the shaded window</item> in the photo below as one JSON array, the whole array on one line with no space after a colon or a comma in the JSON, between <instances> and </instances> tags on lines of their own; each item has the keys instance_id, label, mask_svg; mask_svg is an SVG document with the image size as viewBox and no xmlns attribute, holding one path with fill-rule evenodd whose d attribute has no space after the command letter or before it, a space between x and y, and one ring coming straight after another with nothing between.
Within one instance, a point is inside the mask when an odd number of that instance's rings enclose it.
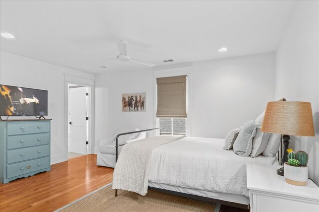
<instances>
[{"instance_id":1,"label":"white back wall on both sides of the shaded window","mask_svg":"<svg viewBox=\"0 0 319 212\"><path fill-rule=\"evenodd\" d=\"M188 64L191 70L191 136L225 138L255 119L275 99L275 54L259 54ZM157 68L160 69L160 68ZM167 74L183 69L162 67ZM157 75L160 74L156 71ZM187 71L187 73L190 73ZM178 74L177 74L178 75ZM180 74L179 74L180 75ZM96 76L96 140L155 123L151 69ZM147 92L146 112L122 112L122 93Z\"/></svg>"}]
</instances>

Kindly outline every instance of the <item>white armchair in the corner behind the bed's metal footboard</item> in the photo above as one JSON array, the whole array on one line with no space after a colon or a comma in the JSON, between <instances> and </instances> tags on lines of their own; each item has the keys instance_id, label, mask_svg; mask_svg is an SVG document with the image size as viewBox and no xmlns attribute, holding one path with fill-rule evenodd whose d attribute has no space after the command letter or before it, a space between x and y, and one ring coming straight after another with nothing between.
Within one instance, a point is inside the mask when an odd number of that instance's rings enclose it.
<instances>
[{"instance_id":1,"label":"white armchair in the corner behind the bed's metal footboard","mask_svg":"<svg viewBox=\"0 0 319 212\"><path fill-rule=\"evenodd\" d=\"M135 131L138 131L139 129L135 129ZM115 167L115 139L117 135L119 134L119 131L115 133L114 136L107 138L107 139L101 139L98 140L98 155L97 155L97 160L96 164L98 166L107 166L107 167ZM146 138L146 132L142 133L136 133L133 135L124 135L119 137L119 145L132 142L132 141L137 141L140 139L145 139ZM123 146L119 146L118 148L118 155L121 152Z\"/></svg>"}]
</instances>

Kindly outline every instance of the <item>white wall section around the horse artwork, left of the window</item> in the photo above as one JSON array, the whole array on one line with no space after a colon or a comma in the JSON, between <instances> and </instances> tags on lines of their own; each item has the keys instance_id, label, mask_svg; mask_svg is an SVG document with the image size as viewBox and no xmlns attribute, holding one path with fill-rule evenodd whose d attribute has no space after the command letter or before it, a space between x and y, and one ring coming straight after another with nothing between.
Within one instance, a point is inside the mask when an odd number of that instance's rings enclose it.
<instances>
[{"instance_id":1,"label":"white wall section around the horse artwork, left of the window","mask_svg":"<svg viewBox=\"0 0 319 212\"><path fill-rule=\"evenodd\" d=\"M122 94L142 92L146 92L146 111L122 112ZM95 99L96 141L112 136L117 129L124 133L153 126L153 72L150 68L97 75Z\"/></svg>"}]
</instances>

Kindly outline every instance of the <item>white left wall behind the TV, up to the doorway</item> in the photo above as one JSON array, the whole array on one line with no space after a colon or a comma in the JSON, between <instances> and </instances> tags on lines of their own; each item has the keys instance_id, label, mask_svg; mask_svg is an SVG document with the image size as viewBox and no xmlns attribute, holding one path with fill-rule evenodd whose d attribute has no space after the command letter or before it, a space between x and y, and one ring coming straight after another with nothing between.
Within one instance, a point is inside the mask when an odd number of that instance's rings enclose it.
<instances>
[{"instance_id":1,"label":"white left wall behind the TV, up to the doorway","mask_svg":"<svg viewBox=\"0 0 319 212\"><path fill-rule=\"evenodd\" d=\"M0 51L0 84L48 90L51 122L51 163L64 161L64 74L94 79L94 75ZM13 117L10 117L12 119ZM21 117L19 117L21 118ZM30 117L35 118L35 117Z\"/></svg>"}]
</instances>

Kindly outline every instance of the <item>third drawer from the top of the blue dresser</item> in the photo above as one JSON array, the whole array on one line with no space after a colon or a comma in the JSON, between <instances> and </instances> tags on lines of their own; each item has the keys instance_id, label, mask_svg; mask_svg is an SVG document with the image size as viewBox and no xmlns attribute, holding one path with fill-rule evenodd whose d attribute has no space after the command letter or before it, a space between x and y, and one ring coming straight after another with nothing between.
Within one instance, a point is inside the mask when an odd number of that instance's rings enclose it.
<instances>
[{"instance_id":1,"label":"third drawer from the top of the blue dresser","mask_svg":"<svg viewBox=\"0 0 319 212\"><path fill-rule=\"evenodd\" d=\"M49 156L50 146L41 145L27 148L8 150L6 153L6 163L15 163L29 159L35 159L38 157Z\"/></svg>"}]
</instances>

